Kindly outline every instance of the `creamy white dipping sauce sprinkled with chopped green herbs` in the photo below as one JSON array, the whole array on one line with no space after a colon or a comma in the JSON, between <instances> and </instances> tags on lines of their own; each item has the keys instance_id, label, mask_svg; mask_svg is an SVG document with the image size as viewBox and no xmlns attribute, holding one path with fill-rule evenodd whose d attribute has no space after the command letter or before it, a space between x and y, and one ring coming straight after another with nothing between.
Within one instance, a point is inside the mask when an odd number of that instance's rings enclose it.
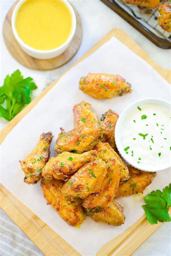
<instances>
[{"instance_id":1,"label":"creamy white dipping sauce sprinkled with chopped green herbs","mask_svg":"<svg viewBox=\"0 0 171 256\"><path fill-rule=\"evenodd\" d=\"M171 160L171 113L156 104L139 105L124 119L121 143L136 165L154 168Z\"/></svg>"}]
</instances>

